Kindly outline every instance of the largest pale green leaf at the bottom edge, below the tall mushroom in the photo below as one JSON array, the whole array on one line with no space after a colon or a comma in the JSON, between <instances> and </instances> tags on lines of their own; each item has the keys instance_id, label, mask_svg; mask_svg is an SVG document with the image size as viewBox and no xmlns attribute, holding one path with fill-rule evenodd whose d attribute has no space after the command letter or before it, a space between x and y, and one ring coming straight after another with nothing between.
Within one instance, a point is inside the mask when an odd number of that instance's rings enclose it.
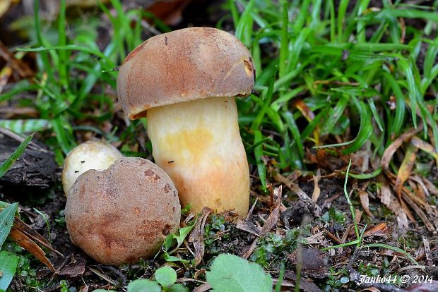
<instances>
[{"instance_id":1,"label":"largest pale green leaf at the bottom edge, below the tall mushroom","mask_svg":"<svg viewBox=\"0 0 438 292\"><path fill-rule=\"evenodd\" d=\"M259 264L236 255L218 255L207 273L207 282L218 292L271 292L271 276Z\"/></svg>"}]
</instances>

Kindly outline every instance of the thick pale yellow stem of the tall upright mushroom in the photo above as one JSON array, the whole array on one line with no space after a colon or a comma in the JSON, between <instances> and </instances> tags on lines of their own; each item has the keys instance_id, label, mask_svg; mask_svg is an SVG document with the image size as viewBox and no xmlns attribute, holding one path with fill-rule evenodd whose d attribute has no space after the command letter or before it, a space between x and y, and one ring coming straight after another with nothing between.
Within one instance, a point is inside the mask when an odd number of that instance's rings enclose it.
<instances>
[{"instance_id":1,"label":"thick pale yellow stem of the tall upright mushroom","mask_svg":"<svg viewBox=\"0 0 438 292\"><path fill-rule=\"evenodd\" d=\"M182 206L217 212L249 207L249 169L235 97L212 97L148 109L155 163L174 181Z\"/></svg>"}]
</instances>

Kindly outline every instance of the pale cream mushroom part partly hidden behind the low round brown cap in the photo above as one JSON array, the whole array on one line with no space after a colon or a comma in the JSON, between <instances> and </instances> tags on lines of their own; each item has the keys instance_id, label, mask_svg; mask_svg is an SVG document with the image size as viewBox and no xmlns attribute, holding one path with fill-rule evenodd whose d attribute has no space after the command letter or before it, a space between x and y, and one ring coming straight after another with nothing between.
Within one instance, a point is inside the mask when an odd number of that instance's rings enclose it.
<instances>
[{"instance_id":1,"label":"pale cream mushroom part partly hidden behind the low round brown cap","mask_svg":"<svg viewBox=\"0 0 438 292\"><path fill-rule=\"evenodd\" d=\"M124 157L116 147L100 141L87 141L67 154L61 181L67 196L76 179L88 169L107 169L117 159Z\"/></svg>"}]
</instances>

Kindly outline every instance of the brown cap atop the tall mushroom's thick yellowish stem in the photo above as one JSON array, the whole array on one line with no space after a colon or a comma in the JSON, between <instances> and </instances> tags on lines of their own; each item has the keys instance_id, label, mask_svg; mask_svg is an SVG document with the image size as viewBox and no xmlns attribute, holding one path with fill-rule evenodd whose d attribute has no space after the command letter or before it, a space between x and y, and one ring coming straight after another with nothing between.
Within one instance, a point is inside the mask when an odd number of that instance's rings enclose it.
<instances>
[{"instance_id":1,"label":"brown cap atop the tall mushroom's thick yellowish stem","mask_svg":"<svg viewBox=\"0 0 438 292\"><path fill-rule=\"evenodd\" d=\"M208 97L247 96L254 64L235 36L215 28L184 28L156 35L126 57L117 95L131 119L167 104Z\"/></svg>"}]
</instances>

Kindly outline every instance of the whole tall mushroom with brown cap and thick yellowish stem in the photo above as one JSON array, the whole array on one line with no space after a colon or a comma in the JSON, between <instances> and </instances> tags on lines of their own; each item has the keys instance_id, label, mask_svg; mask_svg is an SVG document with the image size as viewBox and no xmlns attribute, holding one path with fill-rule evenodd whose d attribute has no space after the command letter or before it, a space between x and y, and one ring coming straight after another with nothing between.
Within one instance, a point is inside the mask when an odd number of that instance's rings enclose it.
<instances>
[{"instance_id":1,"label":"whole tall mushroom with brown cap and thick yellowish stem","mask_svg":"<svg viewBox=\"0 0 438 292\"><path fill-rule=\"evenodd\" d=\"M251 93L254 64L244 44L215 28L151 37L119 68L117 93L131 119L147 115L155 163L183 206L201 212L249 207L249 169L235 97Z\"/></svg>"}]
</instances>

